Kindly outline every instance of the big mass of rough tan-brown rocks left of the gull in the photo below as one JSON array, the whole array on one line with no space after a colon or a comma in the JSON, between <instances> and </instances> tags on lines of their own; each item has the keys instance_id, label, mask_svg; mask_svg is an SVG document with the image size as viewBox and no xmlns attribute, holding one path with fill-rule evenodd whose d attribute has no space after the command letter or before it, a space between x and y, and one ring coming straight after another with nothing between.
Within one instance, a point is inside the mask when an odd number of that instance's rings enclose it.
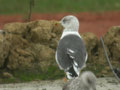
<instances>
[{"instance_id":1,"label":"big mass of rough tan-brown rocks left of the gull","mask_svg":"<svg viewBox=\"0 0 120 90\"><path fill-rule=\"evenodd\" d=\"M6 49L0 52L7 53L0 57L3 58L0 61L1 67L4 65L4 68L9 70L37 68L38 71L46 72L47 67L55 65L55 48L62 30L63 27L57 21L6 24L4 26L6 34L1 35L0 44L6 43Z\"/></svg>"}]
</instances>

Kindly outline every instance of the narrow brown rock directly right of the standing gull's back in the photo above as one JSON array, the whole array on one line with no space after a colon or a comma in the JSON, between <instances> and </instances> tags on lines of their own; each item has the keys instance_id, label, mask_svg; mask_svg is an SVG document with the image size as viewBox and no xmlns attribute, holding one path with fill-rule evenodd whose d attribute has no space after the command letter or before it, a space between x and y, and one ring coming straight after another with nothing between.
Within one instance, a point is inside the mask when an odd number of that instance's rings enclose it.
<instances>
[{"instance_id":1,"label":"narrow brown rock directly right of the standing gull's back","mask_svg":"<svg viewBox=\"0 0 120 90\"><path fill-rule=\"evenodd\" d=\"M95 61L98 56L98 38L95 34L87 32L82 34L82 38L85 42L87 52L88 52L88 61ZM97 60L97 59L96 59Z\"/></svg>"}]
</instances>

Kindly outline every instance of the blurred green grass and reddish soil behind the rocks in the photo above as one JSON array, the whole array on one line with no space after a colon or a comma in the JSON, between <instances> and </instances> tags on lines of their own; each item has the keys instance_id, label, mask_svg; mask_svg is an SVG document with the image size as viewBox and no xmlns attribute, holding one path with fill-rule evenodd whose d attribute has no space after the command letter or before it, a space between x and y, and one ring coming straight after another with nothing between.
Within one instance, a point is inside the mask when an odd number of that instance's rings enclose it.
<instances>
[{"instance_id":1,"label":"blurred green grass and reddish soil behind the rocks","mask_svg":"<svg viewBox=\"0 0 120 90\"><path fill-rule=\"evenodd\" d=\"M80 20L81 33L93 32L100 37L119 25L120 0L0 0L0 29L5 23L60 20L69 14Z\"/></svg>"}]
</instances>

